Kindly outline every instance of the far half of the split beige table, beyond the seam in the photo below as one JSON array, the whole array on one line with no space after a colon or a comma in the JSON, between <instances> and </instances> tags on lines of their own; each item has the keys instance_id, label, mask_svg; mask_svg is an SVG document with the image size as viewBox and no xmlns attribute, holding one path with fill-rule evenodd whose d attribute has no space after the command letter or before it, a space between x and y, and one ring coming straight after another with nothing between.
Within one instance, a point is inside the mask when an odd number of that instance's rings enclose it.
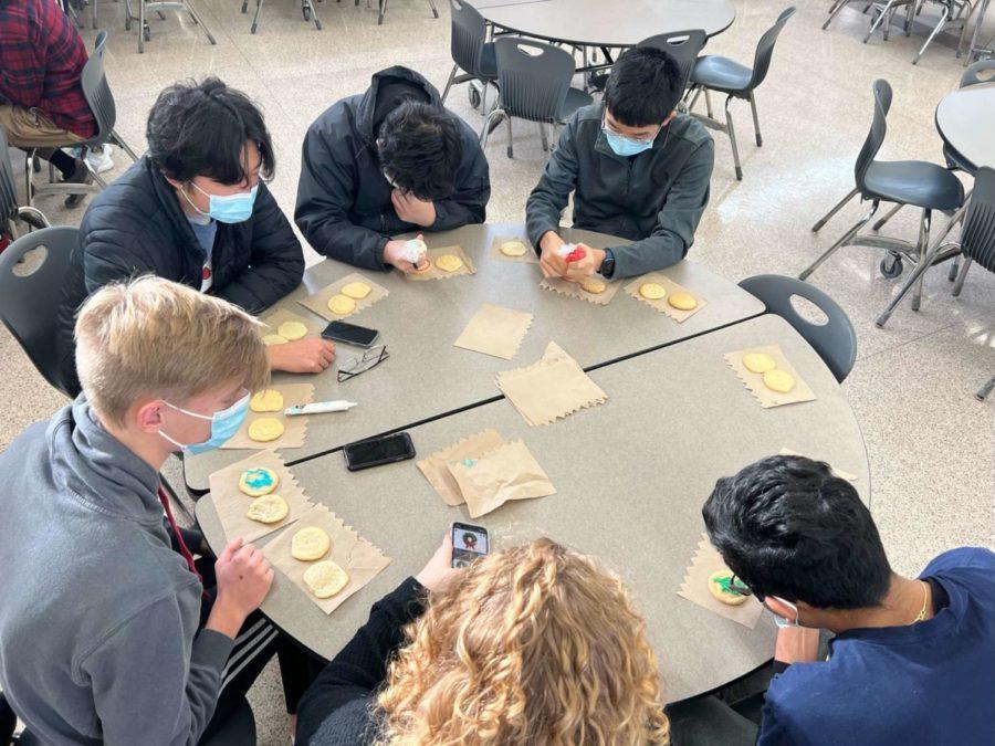
<instances>
[{"instance_id":1,"label":"far half of the split beige table, beyond the seam","mask_svg":"<svg viewBox=\"0 0 995 746\"><path fill-rule=\"evenodd\" d=\"M524 229L500 223L468 225L428 237L430 246L461 244L476 265L478 272L473 276L410 282L396 272L362 271L387 287L390 295L348 321L379 329L379 343L387 345L390 358L343 383L338 382L334 367L317 376L275 375L274 383L314 383L315 401L350 399L359 402L348 412L310 417L304 445L283 450L284 459L308 459L346 443L498 397L500 391L494 375L537 360L551 339L582 366L590 367L733 324L764 311L760 301L737 285L690 261L666 271L675 282L700 293L709 302L683 324L621 290L607 306L596 306L541 288L542 273L537 264L490 259L486 254L492 239L499 235L524 235ZM596 248L624 242L589 231L565 229L564 237L570 235ZM323 319L296 301L356 271L339 262L322 262L306 272L304 286L281 301L277 307L287 307L324 326ZM511 360L453 347L452 343L484 303L535 316L517 355ZM339 346L339 355L344 358L355 357L360 351ZM248 453L220 450L186 459L187 485L198 492L207 491L209 474Z\"/></svg>"}]
</instances>

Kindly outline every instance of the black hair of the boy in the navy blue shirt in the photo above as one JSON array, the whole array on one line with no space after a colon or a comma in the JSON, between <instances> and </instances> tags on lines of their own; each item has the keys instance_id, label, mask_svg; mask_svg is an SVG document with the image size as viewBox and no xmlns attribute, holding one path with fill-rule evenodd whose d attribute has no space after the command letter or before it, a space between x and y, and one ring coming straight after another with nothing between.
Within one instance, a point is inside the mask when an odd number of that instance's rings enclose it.
<instances>
[{"instance_id":1,"label":"black hair of the boy in the navy blue shirt","mask_svg":"<svg viewBox=\"0 0 995 746\"><path fill-rule=\"evenodd\" d=\"M762 459L719 480L702 515L726 565L761 600L863 609L888 592L891 567L870 511L826 463Z\"/></svg>"}]
</instances>

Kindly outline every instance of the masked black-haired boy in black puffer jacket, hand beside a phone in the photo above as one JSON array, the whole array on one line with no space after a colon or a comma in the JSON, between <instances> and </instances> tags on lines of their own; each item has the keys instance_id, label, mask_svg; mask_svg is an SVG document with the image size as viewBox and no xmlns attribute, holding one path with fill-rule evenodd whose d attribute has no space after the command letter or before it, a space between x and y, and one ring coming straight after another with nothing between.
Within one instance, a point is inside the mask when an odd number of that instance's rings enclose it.
<instances>
[{"instance_id":1,"label":"masked black-haired boy in black puffer jacket, hand beside a phone","mask_svg":"<svg viewBox=\"0 0 995 746\"><path fill-rule=\"evenodd\" d=\"M304 253L266 188L275 160L262 113L216 77L156 99L148 153L91 203L60 307L62 377L73 369L73 317L108 282L151 273L258 314L301 284ZM301 339L266 349L273 370L318 372L335 348Z\"/></svg>"}]
</instances>

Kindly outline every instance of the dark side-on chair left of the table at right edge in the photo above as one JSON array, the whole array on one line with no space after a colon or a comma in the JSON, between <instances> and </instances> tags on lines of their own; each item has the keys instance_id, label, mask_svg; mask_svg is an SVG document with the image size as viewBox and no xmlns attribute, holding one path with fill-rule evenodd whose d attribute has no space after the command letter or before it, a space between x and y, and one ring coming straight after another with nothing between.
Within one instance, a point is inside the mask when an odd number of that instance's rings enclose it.
<instances>
[{"instance_id":1,"label":"dark side-on chair left of the table at right edge","mask_svg":"<svg viewBox=\"0 0 995 746\"><path fill-rule=\"evenodd\" d=\"M961 181L938 164L924 160L874 160L874 156L878 155L878 150L881 148L884 135L888 132L887 117L888 111L891 108L891 86L888 85L887 81L879 80L874 81L872 88L874 94L874 117L863 147L857 156L857 165L853 169L857 186L821 220L813 225L811 230L817 232L857 195L860 195L861 200L871 200L871 208L863 218L798 275L800 280L808 277L823 262L836 253L840 246L845 245L884 249L888 255L881 260L881 274L889 279L897 277L902 273L902 260L909 261L912 265L918 265L925 260L926 248L930 243L930 225L933 211L959 211L964 204L964 187L961 185ZM874 217L881 202L912 204L922 209L919 240L914 244L901 239L858 235L860 229ZM936 240L940 241L945 238L959 220L960 214L955 214L941 234L936 237ZM949 258L946 256L946 259ZM918 276L921 279L921 273ZM922 285L918 283L912 296L912 308L919 308L921 295Z\"/></svg>"}]
</instances>

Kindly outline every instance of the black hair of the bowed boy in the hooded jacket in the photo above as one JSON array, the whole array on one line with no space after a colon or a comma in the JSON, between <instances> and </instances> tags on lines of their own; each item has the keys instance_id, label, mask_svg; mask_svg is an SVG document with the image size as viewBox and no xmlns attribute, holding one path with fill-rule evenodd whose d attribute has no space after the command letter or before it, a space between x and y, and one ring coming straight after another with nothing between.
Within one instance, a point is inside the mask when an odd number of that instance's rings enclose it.
<instances>
[{"instance_id":1,"label":"black hair of the bowed boy in the hooded jacket","mask_svg":"<svg viewBox=\"0 0 995 746\"><path fill-rule=\"evenodd\" d=\"M452 114L438 106L406 102L380 125L380 166L398 189L421 200L450 197L463 158Z\"/></svg>"}]
</instances>

